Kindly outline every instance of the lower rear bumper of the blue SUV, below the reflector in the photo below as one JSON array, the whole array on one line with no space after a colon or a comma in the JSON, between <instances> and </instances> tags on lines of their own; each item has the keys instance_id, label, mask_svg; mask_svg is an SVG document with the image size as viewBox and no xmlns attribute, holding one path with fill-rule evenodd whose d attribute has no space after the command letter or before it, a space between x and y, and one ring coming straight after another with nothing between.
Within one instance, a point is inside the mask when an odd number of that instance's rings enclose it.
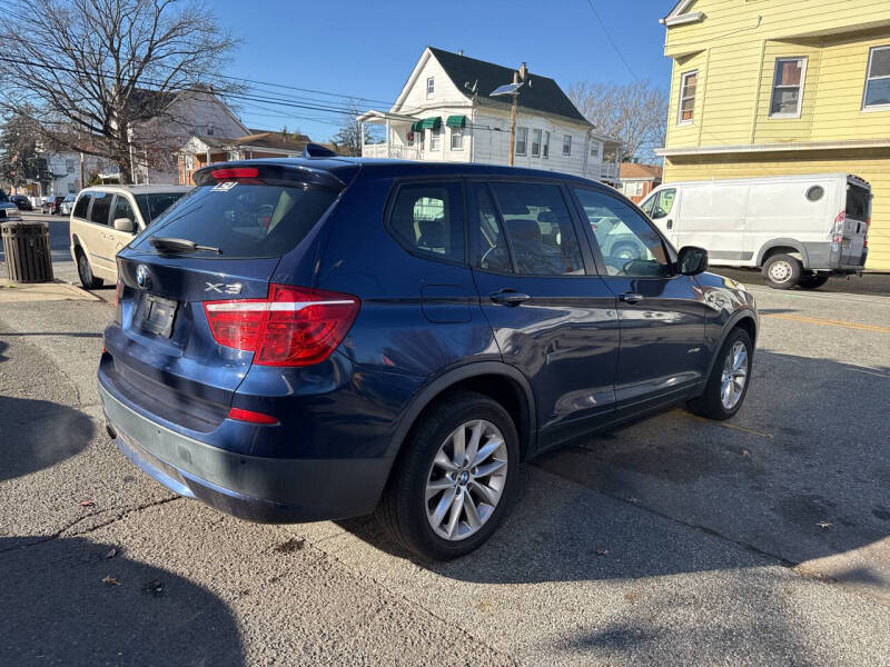
<instances>
[{"instance_id":1,"label":"lower rear bumper of the blue SUV, below the reflector","mask_svg":"<svg viewBox=\"0 0 890 667\"><path fill-rule=\"evenodd\" d=\"M374 510L390 459L246 456L177 434L140 415L99 384L118 448L170 490L259 522L343 519Z\"/></svg>"}]
</instances>

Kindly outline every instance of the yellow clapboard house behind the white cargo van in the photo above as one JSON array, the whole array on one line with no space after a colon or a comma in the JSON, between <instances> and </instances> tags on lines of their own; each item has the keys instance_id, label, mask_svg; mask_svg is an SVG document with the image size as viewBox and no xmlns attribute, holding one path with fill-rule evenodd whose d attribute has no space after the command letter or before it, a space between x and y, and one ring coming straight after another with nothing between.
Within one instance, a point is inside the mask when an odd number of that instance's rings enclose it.
<instances>
[{"instance_id":1,"label":"yellow clapboard house behind the white cargo van","mask_svg":"<svg viewBox=\"0 0 890 667\"><path fill-rule=\"evenodd\" d=\"M846 171L871 182L890 270L890 0L681 0L664 182Z\"/></svg>"}]
</instances>

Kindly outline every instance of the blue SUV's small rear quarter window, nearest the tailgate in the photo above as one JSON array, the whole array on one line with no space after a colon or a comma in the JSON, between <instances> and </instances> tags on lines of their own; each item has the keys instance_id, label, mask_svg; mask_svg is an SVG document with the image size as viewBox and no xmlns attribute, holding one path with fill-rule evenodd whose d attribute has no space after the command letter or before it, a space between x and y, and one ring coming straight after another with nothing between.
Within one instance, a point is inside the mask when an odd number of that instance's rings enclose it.
<instances>
[{"instance_id":1,"label":"blue SUV's small rear quarter window, nearest the tailgate","mask_svg":"<svg viewBox=\"0 0 890 667\"><path fill-rule=\"evenodd\" d=\"M464 200L459 181L425 181L398 188L389 231L408 252L464 261Z\"/></svg>"}]
</instances>

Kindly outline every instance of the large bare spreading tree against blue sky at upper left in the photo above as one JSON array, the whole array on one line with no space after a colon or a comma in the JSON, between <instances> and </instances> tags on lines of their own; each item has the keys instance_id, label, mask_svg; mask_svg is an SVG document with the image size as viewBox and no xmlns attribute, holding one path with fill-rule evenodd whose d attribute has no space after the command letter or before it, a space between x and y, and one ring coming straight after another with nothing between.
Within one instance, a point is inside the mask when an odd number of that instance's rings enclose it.
<instances>
[{"instance_id":1,"label":"large bare spreading tree against blue sky at upper left","mask_svg":"<svg viewBox=\"0 0 890 667\"><path fill-rule=\"evenodd\" d=\"M168 157L139 132L182 91L225 92L219 74L237 43L200 2L10 0L0 50L0 111L28 113L57 146L113 160L132 181L134 155Z\"/></svg>"}]
</instances>

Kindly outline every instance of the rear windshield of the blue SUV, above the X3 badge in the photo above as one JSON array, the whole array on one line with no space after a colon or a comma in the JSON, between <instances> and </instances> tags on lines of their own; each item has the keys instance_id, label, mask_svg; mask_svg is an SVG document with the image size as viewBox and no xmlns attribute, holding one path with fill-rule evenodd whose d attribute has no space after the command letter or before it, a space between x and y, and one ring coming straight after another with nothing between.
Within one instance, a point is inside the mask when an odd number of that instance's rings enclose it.
<instances>
[{"instance_id":1,"label":"rear windshield of the blue SUV, above the X3 badge","mask_svg":"<svg viewBox=\"0 0 890 667\"><path fill-rule=\"evenodd\" d=\"M280 257L293 250L337 193L312 187L220 183L195 188L139 237L134 248L155 252L152 237L219 248L222 257ZM219 257L209 251L196 257Z\"/></svg>"}]
</instances>

